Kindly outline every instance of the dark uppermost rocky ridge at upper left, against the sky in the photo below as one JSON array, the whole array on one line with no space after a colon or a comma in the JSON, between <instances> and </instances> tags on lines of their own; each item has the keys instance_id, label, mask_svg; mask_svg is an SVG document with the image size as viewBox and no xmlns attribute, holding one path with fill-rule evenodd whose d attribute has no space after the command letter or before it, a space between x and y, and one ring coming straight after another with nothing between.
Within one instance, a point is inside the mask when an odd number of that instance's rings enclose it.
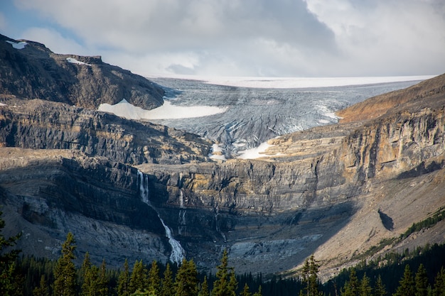
<instances>
[{"instance_id":1,"label":"dark uppermost rocky ridge at upper left, against the sky","mask_svg":"<svg viewBox=\"0 0 445 296\"><path fill-rule=\"evenodd\" d=\"M144 109L163 104L161 87L104 63L100 57L59 55L28 40L22 49L11 43L18 41L0 35L1 94L92 109L103 103L117 104L122 99Z\"/></svg>"}]
</instances>

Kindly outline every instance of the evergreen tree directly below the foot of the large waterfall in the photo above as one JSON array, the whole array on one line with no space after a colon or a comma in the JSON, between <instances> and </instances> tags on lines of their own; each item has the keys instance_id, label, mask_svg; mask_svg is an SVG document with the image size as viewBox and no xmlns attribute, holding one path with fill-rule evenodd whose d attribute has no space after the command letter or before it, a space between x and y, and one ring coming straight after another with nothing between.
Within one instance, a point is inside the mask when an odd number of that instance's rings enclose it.
<instances>
[{"instance_id":1,"label":"evergreen tree directly below the foot of the large waterfall","mask_svg":"<svg viewBox=\"0 0 445 296\"><path fill-rule=\"evenodd\" d=\"M198 294L198 270L191 259L187 261L185 258L178 269L175 279L176 296L196 296Z\"/></svg>"}]
</instances>

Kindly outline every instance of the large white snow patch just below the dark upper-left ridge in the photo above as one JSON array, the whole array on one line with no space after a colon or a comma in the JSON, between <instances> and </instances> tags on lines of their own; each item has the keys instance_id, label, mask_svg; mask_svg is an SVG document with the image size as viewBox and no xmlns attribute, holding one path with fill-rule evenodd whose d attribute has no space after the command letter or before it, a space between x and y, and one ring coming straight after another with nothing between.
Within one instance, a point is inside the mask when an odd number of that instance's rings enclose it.
<instances>
[{"instance_id":1,"label":"large white snow patch just below the dark upper-left ridge","mask_svg":"<svg viewBox=\"0 0 445 296\"><path fill-rule=\"evenodd\" d=\"M163 105L151 110L145 110L138 106L133 106L126 99L110 105L100 104L99 111L110 112L127 119L190 119L195 117L210 116L223 113L227 108L215 106L177 106L171 102L164 101Z\"/></svg>"}]
</instances>

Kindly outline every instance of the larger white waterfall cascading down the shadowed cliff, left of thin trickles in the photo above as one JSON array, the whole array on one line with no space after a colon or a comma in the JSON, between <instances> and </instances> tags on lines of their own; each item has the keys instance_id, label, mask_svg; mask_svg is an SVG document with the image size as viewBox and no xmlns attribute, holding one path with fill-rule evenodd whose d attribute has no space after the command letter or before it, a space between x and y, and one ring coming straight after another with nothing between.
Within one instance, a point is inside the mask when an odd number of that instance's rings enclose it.
<instances>
[{"instance_id":1,"label":"larger white waterfall cascading down the shadowed cliff, left of thin trickles","mask_svg":"<svg viewBox=\"0 0 445 296\"><path fill-rule=\"evenodd\" d=\"M158 210L151 205L149 199L149 176L144 175L139 170L137 171L137 175L139 180L139 194L141 195L142 202L148 204L149 207L154 209L156 214L158 214L159 220L161 221L163 228L166 229L166 237L168 238L168 243L170 243L171 246L170 261L177 263L179 265L181 264L184 258L184 249L182 248L181 243L179 243L179 241L176 241L176 239L173 238L173 234L171 234L171 229L164 223L161 216L159 216Z\"/></svg>"}]
</instances>

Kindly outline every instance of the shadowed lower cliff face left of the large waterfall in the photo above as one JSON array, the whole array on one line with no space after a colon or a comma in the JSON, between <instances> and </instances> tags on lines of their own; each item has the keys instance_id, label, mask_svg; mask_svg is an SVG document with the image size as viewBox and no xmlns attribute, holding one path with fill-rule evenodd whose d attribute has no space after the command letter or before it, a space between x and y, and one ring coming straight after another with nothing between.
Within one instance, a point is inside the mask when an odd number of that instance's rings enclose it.
<instances>
[{"instance_id":1,"label":"shadowed lower cliff face left of the large waterfall","mask_svg":"<svg viewBox=\"0 0 445 296\"><path fill-rule=\"evenodd\" d=\"M2 219L23 232L23 253L57 258L72 231L97 262L166 260L163 226L139 197L135 168L72 150L1 148L0 184Z\"/></svg>"}]
</instances>

